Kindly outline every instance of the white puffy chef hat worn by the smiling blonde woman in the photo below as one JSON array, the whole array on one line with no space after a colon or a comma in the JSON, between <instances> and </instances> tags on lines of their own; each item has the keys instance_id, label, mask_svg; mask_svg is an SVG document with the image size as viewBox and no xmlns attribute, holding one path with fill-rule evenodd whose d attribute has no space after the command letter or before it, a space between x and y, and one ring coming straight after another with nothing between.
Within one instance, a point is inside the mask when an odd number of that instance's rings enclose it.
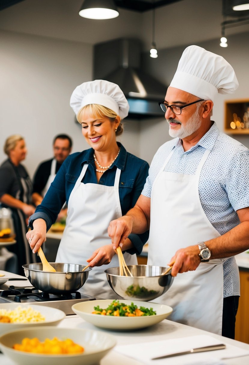
<instances>
[{"instance_id":1,"label":"white puffy chef hat worn by the smiling blonde woman","mask_svg":"<svg viewBox=\"0 0 249 365\"><path fill-rule=\"evenodd\" d=\"M77 115L88 104L99 104L113 110L121 119L128 115L129 104L120 87L106 80L83 82L74 89L70 106Z\"/></svg>"}]
</instances>

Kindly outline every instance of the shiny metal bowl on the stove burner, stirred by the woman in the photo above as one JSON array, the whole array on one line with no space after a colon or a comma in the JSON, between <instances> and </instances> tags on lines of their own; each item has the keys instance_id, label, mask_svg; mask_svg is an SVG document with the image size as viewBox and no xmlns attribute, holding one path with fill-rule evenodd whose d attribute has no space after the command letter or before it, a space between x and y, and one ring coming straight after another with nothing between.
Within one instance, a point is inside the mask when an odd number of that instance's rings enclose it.
<instances>
[{"instance_id":1,"label":"shiny metal bowl on the stove burner, stirred by the woman","mask_svg":"<svg viewBox=\"0 0 249 365\"><path fill-rule=\"evenodd\" d=\"M50 262L56 272L42 271L42 263L23 265L24 274L37 289L51 294L70 293L81 288L92 268L85 265Z\"/></svg>"}]
</instances>

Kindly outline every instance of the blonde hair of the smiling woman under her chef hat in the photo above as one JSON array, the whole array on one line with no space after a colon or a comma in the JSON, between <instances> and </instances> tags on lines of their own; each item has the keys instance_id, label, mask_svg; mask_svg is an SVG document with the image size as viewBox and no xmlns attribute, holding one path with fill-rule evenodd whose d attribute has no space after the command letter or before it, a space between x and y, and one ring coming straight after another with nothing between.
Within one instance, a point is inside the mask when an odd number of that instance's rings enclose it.
<instances>
[{"instance_id":1,"label":"blonde hair of the smiling woman under her chef hat","mask_svg":"<svg viewBox=\"0 0 249 365\"><path fill-rule=\"evenodd\" d=\"M107 107L104 107L103 105L88 104L88 105L85 105L83 108L81 108L78 111L76 118L79 123L81 123L81 120L84 118L84 114L86 112L88 112L89 114L92 114L92 115L99 115L101 117L107 117L110 119L111 122L114 122L114 120L116 120L116 118L118 116L118 114L116 114L113 110L111 110ZM122 126L122 123L119 123L119 126L116 131L116 135L119 136L122 133L123 133L123 126Z\"/></svg>"}]
</instances>

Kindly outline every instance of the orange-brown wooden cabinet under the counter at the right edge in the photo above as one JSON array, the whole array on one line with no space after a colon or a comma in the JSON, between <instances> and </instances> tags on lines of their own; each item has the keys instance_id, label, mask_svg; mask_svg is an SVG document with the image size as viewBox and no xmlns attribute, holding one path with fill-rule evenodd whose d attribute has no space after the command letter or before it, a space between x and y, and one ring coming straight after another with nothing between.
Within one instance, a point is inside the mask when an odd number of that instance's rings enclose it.
<instances>
[{"instance_id":1,"label":"orange-brown wooden cabinet under the counter at the right edge","mask_svg":"<svg viewBox=\"0 0 249 365\"><path fill-rule=\"evenodd\" d=\"M249 343L249 269L240 268L240 300L235 322L235 340Z\"/></svg>"}]
</instances>

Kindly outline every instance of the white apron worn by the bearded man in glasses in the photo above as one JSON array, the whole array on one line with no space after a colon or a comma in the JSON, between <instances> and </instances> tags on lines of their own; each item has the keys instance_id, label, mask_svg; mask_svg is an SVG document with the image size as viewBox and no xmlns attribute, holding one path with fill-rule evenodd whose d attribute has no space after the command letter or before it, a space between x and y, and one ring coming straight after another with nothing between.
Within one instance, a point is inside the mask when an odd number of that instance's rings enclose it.
<instances>
[{"instance_id":1,"label":"white apron worn by the bearded man in glasses","mask_svg":"<svg viewBox=\"0 0 249 365\"><path fill-rule=\"evenodd\" d=\"M164 171L174 151L152 187L148 265L165 267L177 250L220 236L203 211L198 191L210 150L195 175ZM201 262L196 270L177 274L168 292L156 299L173 308L168 319L221 335L223 261Z\"/></svg>"}]
</instances>

